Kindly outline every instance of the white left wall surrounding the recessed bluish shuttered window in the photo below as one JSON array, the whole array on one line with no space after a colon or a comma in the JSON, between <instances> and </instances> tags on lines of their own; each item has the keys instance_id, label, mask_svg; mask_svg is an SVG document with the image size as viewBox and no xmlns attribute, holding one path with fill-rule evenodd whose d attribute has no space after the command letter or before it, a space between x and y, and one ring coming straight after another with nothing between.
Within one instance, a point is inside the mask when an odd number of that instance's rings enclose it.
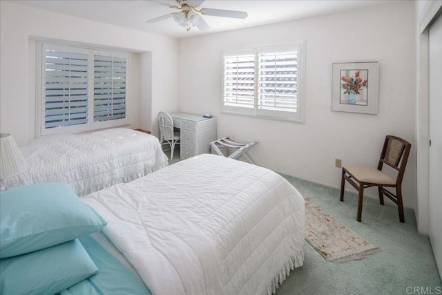
<instances>
[{"instance_id":1,"label":"white left wall surrounding the recessed bluish shuttered window","mask_svg":"<svg viewBox=\"0 0 442 295\"><path fill-rule=\"evenodd\" d=\"M4 1L0 2L0 13L0 132L11 133L19 145L35 137L35 68L29 54L35 46L32 39L137 52L132 61L139 64L131 65L135 79L129 89L131 126L156 135L158 111L177 111L176 39Z\"/></svg>"}]
</instances>

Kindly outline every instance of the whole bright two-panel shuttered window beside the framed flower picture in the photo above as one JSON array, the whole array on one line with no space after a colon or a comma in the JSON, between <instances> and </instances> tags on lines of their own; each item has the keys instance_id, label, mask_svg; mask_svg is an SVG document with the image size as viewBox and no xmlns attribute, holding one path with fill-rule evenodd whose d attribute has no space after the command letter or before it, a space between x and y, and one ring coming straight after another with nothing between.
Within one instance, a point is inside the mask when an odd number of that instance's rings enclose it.
<instances>
[{"instance_id":1,"label":"whole bright two-panel shuttered window beside the framed flower picture","mask_svg":"<svg viewBox=\"0 0 442 295\"><path fill-rule=\"evenodd\" d=\"M224 51L222 111L303 122L302 47Z\"/></svg>"}]
</instances>

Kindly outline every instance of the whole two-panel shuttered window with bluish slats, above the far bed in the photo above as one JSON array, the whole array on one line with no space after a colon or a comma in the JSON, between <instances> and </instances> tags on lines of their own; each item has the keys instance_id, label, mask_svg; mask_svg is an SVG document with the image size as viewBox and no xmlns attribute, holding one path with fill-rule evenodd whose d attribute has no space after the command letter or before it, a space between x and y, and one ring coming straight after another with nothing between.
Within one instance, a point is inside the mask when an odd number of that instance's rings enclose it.
<instances>
[{"instance_id":1,"label":"whole two-panel shuttered window with bluish slats, above the far bed","mask_svg":"<svg viewBox=\"0 0 442 295\"><path fill-rule=\"evenodd\" d=\"M41 46L40 134L128 124L128 53Z\"/></svg>"}]
</instances>

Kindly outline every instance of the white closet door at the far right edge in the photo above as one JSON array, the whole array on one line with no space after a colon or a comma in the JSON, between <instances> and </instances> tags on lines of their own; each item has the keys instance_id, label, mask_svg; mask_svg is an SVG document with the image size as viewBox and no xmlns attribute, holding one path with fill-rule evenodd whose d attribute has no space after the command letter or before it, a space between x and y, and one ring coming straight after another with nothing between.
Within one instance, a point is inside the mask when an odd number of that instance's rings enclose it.
<instances>
[{"instance_id":1,"label":"white closet door at the far right edge","mask_svg":"<svg viewBox=\"0 0 442 295\"><path fill-rule=\"evenodd\" d=\"M442 17L430 26L430 241L442 276Z\"/></svg>"}]
</instances>

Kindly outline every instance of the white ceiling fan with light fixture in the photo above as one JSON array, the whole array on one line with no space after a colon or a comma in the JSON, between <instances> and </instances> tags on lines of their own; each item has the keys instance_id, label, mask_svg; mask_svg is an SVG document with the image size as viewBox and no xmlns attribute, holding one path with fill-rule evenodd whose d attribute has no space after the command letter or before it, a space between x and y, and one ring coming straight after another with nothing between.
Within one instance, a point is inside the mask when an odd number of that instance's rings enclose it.
<instances>
[{"instance_id":1,"label":"white ceiling fan with light fixture","mask_svg":"<svg viewBox=\"0 0 442 295\"><path fill-rule=\"evenodd\" d=\"M200 6L204 0L176 0L176 5L162 1L153 2L169 8L175 8L180 11L172 12L168 15L163 15L162 17L155 17L155 19L149 19L146 21L147 23L156 23L157 21L162 21L163 19L169 19L172 17L174 21L176 21L180 26L186 28L186 30L190 30L192 27L197 27L203 31L209 30L209 24L204 21L201 15L232 17L234 19L245 19L247 17L247 12L244 11L198 8L198 6Z\"/></svg>"}]
</instances>

